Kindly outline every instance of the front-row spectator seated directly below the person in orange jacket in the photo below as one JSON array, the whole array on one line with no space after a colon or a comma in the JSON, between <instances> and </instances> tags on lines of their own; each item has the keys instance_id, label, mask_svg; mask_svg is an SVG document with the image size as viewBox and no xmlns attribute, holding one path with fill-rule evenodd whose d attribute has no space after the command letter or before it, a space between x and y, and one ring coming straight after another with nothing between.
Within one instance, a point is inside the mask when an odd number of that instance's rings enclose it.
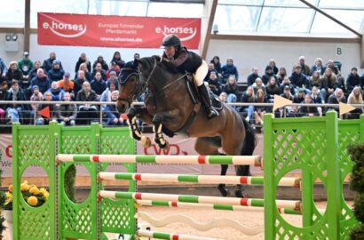
<instances>
[{"instance_id":1,"label":"front-row spectator seated directly below the person in orange jacket","mask_svg":"<svg viewBox=\"0 0 364 240\"><path fill-rule=\"evenodd\" d=\"M64 101L69 104L60 104L56 106L57 120L60 124L75 125L75 117L77 116L77 107L71 102L71 94L65 92Z\"/></svg>"}]
</instances>

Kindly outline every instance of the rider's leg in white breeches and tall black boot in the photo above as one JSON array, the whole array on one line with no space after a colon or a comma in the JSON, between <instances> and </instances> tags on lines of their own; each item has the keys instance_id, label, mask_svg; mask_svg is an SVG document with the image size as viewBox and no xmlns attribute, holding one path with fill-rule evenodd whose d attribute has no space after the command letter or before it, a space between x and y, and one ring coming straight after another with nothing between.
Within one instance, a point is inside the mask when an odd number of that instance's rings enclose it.
<instances>
[{"instance_id":1,"label":"rider's leg in white breeches and tall black boot","mask_svg":"<svg viewBox=\"0 0 364 240\"><path fill-rule=\"evenodd\" d=\"M203 79L205 78L208 72L209 72L208 65L205 60L202 60L201 66L197 68L196 73L194 74L194 82L197 85L197 88L199 90L202 99L202 103L205 106L208 113L208 118L210 119L214 116L218 116L218 111L212 107L209 90L207 89L207 86L203 83Z\"/></svg>"}]
</instances>

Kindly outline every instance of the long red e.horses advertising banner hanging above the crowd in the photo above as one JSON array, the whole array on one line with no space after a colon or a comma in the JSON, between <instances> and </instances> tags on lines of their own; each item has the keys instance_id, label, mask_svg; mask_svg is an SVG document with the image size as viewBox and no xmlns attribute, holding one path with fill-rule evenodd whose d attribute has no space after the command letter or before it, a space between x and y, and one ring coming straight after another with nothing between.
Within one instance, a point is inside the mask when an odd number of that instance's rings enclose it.
<instances>
[{"instance_id":1,"label":"long red e.horses advertising banner hanging above the crowd","mask_svg":"<svg viewBox=\"0 0 364 240\"><path fill-rule=\"evenodd\" d=\"M38 12L38 44L159 48L164 36L198 49L201 19L104 16Z\"/></svg>"}]
</instances>

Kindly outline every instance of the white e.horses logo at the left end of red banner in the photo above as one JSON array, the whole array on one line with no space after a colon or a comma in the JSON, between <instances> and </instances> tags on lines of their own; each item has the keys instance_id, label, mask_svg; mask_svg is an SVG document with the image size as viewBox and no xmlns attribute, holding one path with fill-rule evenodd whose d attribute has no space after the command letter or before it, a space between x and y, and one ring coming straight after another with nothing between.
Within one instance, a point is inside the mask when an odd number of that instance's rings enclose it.
<instances>
[{"instance_id":1,"label":"white e.horses logo at the left end of red banner","mask_svg":"<svg viewBox=\"0 0 364 240\"><path fill-rule=\"evenodd\" d=\"M51 24L48 22L43 23L44 29L50 29L52 33L62 37L78 37L82 36L87 29L86 24L72 24L72 23L63 23L51 20ZM64 33L61 33L63 31ZM67 32L65 32L67 31ZM71 32L71 33L69 33ZM72 33L75 32L75 33Z\"/></svg>"}]
</instances>

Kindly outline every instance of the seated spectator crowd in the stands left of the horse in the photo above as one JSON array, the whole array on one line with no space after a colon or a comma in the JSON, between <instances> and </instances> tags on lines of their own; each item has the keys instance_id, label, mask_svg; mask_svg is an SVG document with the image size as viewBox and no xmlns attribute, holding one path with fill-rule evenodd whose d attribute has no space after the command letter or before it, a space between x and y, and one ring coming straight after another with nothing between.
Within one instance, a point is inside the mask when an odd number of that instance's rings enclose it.
<instances>
[{"instance_id":1,"label":"seated spectator crowd in the stands left of the horse","mask_svg":"<svg viewBox=\"0 0 364 240\"><path fill-rule=\"evenodd\" d=\"M135 58L139 58L138 53ZM48 124L51 120L65 125L89 124L99 122L102 114L103 124L124 125L126 119L115 109L119 95L117 76L124 64L120 52L114 53L110 64L100 54L91 64L86 54L81 53L75 62L74 75L63 69L55 52L43 64L40 60L30 60L28 52L24 52L22 60L12 61L8 66L0 58L0 100L14 101L0 105L0 124ZM39 103L18 104L18 100ZM110 104L73 103L100 100Z\"/></svg>"}]
</instances>

